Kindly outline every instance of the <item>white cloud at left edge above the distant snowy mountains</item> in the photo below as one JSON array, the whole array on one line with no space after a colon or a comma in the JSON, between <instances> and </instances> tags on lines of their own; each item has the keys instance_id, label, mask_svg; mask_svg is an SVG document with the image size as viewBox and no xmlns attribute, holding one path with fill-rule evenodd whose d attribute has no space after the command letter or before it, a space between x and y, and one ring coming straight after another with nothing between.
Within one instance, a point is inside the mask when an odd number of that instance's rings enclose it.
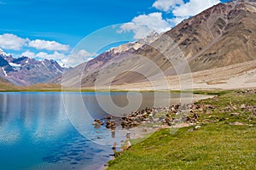
<instances>
[{"instance_id":1,"label":"white cloud at left edge above the distant snowy mountains","mask_svg":"<svg viewBox=\"0 0 256 170\"><path fill-rule=\"evenodd\" d=\"M0 47L4 49L20 50L28 41L29 39L23 39L14 34L0 35Z\"/></svg>"}]
</instances>

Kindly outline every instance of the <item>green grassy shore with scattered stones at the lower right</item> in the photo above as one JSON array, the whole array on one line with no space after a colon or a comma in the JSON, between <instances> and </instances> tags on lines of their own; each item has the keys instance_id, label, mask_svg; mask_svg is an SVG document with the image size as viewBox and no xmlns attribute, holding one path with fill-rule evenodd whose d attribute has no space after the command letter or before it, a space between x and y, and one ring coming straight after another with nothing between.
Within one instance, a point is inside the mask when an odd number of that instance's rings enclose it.
<instances>
[{"instance_id":1,"label":"green grassy shore with scattered stones at the lower right","mask_svg":"<svg viewBox=\"0 0 256 170\"><path fill-rule=\"evenodd\" d=\"M200 128L162 129L109 161L108 169L255 169L255 91L217 94L196 103L213 106L196 111Z\"/></svg>"}]
</instances>

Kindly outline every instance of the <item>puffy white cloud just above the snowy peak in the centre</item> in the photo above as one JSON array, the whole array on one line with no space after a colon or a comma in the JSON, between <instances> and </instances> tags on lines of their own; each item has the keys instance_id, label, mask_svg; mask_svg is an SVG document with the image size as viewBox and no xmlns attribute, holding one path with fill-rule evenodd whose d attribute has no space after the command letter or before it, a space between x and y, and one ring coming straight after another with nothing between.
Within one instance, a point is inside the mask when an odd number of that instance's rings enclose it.
<instances>
[{"instance_id":1,"label":"puffy white cloud just above the snowy peak in the centre","mask_svg":"<svg viewBox=\"0 0 256 170\"><path fill-rule=\"evenodd\" d=\"M141 14L129 23L125 23L120 26L121 31L133 31L135 33L134 38L139 39L148 35L151 31L168 31L171 29L169 23L163 20L161 13Z\"/></svg>"}]
</instances>

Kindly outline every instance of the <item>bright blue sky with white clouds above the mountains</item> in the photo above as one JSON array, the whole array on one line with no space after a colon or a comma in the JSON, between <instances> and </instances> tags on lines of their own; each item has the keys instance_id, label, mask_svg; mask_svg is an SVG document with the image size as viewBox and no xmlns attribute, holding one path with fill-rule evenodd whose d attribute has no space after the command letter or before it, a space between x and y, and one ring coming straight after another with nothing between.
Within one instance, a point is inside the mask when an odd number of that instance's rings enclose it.
<instances>
[{"instance_id":1,"label":"bright blue sky with white clouds above the mountains","mask_svg":"<svg viewBox=\"0 0 256 170\"><path fill-rule=\"evenodd\" d=\"M120 24L116 37L121 36L120 32L122 32L127 34L126 40L137 39L152 31L149 28L167 31L181 20L219 2L219 0L0 0L2 21L0 48L15 57L27 55L36 59L56 59L63 64L84 37L90 35L89 39L91 39L93 38L91 35L96 35L94 31L106 26ZM109 27L98 31L97 34L102 34L103 39L108 39L108 30ZM92 46L97 44L86 44L88 49L79 48L79 54L76 54L80 61L91 59L96 55L96 51L90 48L96 49Z\"/></svg>"}]
</instances>

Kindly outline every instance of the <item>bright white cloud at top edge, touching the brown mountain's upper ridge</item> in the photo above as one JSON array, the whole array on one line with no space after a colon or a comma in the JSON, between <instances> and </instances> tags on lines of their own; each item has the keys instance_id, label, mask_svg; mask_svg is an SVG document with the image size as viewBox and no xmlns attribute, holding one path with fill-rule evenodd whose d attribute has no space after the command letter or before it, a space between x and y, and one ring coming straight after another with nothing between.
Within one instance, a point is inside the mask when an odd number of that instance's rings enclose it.
<instances>
[{"instance_id":1,"label":"bright white cloud at top edge, touching the brown mountain's upper ridge","mask_svg":"<svg viewBox=\"0 0 256 170\"><path fill-rule=\"evenodd\" d=\"M220 3L219 0L190 0L188 3L177 6L172 10L172 14L177 17L189 17L201 13L203 10Z\"/></svg>"}]
</instances>

